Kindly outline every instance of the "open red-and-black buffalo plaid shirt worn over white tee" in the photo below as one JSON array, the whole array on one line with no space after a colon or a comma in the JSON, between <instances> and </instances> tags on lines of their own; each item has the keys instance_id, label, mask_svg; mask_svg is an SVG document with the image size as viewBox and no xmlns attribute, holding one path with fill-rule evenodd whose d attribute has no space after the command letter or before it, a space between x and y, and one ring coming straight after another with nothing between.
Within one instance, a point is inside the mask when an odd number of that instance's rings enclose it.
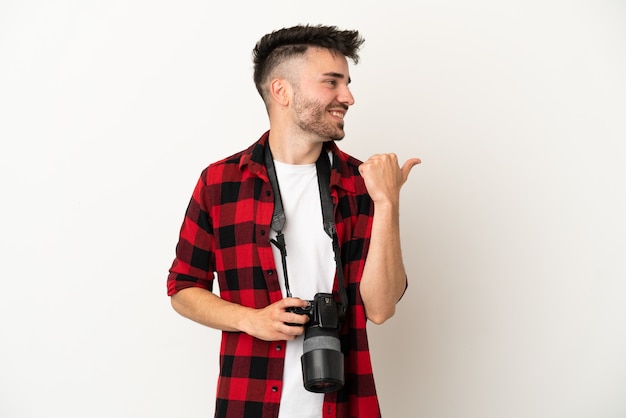
<instances>
[{"instance_id":1,"label":"open red-and-black buffalo plaid shirt worn over white tee","mask_svg":"<svg viewBox=\"0 0 626 418\"><path fill-rule=\"evenodd\" d=\"M211 164L201 174L181 227L167 279L171 296L181 289L213 289L220 297L253 308L282 299L269 242L274 196L264 165L269 132L245 151ZM360 161L333 142L331 194L349 308L340 331L346 384L325 395L323 417L379 418L380 408L359 293L374 206L360 177ZM321 228L321 225L320 225ZM335 278L334 293L338 289ZM217 418L276 418L280 405L285 341L261 341L223 332Z\"/></svg>"}]
</instances>

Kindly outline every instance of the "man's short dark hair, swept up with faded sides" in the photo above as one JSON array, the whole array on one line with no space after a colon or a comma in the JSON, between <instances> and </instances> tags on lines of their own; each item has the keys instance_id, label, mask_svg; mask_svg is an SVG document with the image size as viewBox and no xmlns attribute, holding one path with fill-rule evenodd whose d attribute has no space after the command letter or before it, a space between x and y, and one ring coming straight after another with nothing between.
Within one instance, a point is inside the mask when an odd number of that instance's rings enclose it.
<instances>
[{"instance_id":1,"label":"man's short dark hair, swept up with faded sides","mask_svg":"<svg viewBox=\"0 0 626 418\"><path fill-rule=\"evenodd\" d=\"M257 42L252 52L254 84L267 104L269 81L282 64L304 56L310 47L328 49L356 64L363 42L358 31L339 30L335 26L299 25L271 32Z\"/></svg>"}]
</instances>

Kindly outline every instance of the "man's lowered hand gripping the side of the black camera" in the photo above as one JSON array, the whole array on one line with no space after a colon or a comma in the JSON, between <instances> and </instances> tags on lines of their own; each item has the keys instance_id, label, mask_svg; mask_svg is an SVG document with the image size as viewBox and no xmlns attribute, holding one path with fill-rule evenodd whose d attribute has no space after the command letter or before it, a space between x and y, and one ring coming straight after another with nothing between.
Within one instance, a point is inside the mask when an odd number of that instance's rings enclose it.
<instances>
[{"instance_id":1,"label":"man's lowered hand gripping the side of the black camera","mask_svg":"<svg viewBox=\"0 0 626 418\"><path fill-rule=\"evenodd\" d=\"M287 312L287 309L307 305L302 299L285 298L263 309L252 310L242 321L242 331L265 341L293 340L304 332L304 327L298 325L304 325L309 317Z\"/></svg>"}]
</instances>

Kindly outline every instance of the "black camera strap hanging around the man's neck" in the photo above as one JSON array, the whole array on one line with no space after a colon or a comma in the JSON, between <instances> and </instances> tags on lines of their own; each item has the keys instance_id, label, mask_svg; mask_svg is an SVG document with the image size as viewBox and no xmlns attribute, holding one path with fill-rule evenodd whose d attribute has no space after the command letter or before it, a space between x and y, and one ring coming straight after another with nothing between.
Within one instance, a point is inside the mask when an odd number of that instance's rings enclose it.
<instances>
[{"instance_id":1,"label":"black camera strap hanging around the man's neck","mask_svg":"<svg viewBox=\"0 0 626 418\"><path fill-rule=\"evenodd\" d=\"M286 217L283 208L283 202L280 195L280 187L278 186L278 177L276 176L276 168L274 167L274 159L269 144L265 147L265 167L267 175L274 191L274 213L272 215L271 228L276 231L276 239L270 239L270 242L278 248L281 255L283 266L283 275L285 278L285 290L287 297L291 296L289 289L289 278L287 276L287 247L285 245L285 236L282 233L285 227ZM335 214L333 200L330 195L330 161L328 153L322 149L320 156L315 163L317 168L317 184L320 191L320 202L322 206L322 219L324 221L324 231L332 239L333 253L335 255L335 264L337 269L337 279L339 282L339 297L341 299L341 319L345 316L348 309L348 295L345 289L345 281L343 276L343 266L341 263L341 247L337 236L337 228L335 227Z\"/></svg>"}]
</instances>

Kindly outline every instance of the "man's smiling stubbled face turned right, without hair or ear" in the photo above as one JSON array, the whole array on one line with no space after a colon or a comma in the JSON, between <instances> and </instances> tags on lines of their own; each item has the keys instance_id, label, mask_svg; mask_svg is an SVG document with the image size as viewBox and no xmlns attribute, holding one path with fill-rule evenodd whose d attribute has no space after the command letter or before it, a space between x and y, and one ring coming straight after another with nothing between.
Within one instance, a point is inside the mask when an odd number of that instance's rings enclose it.
<instances>
[{"instance_id":1,"label":"man's smiling stubbled face turned right, without hair or ear","mask_svg":"<svg viewBox=\"0 0 626 418\"><path fill-rule=\"evenodd\" d=\"M322 141L342 139L343 118L354 104L346 58L327 49L309 48L300 69L292 102L295 124Z\"/></svg>"}]
</instances>

